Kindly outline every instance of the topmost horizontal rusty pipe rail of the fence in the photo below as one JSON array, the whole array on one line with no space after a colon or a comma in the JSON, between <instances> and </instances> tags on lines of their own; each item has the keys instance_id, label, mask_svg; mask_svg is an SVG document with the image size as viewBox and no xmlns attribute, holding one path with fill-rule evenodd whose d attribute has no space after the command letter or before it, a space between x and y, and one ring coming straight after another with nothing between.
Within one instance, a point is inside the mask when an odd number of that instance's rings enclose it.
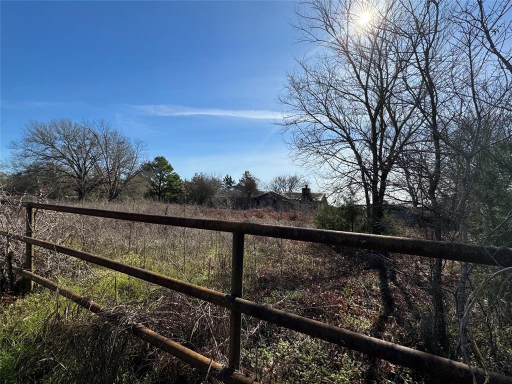
<instances>
[{"instance_id":1,"label":"topmost horizontal rusty pipe rail of the fence","mask_svg":"<svg viewBox=\"0 0 512 384\"><path fill-rule=\"evenodd\" d=\"M34 208L48 209L70 214L96 216L109 219L138 221L178 227L217 230L222 232L242 232L257 236L299 240L362 249L413 254L429 258L465 261L502 267L512 266L512 249L473 244L446 243L441 241L380 236L368 233L331 231L325 229L288 227L280 225L233 222L210 219L193 219L174 216L137 214L70 207L64 205L31 203Z\"/></svg>"}]
</instances>

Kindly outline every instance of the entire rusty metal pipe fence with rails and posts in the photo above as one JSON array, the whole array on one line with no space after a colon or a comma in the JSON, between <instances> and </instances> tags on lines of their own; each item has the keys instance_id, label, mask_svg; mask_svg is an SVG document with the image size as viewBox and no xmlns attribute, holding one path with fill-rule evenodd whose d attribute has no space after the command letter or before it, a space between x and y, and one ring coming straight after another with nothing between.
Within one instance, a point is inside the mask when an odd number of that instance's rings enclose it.
<instances>
[{"instance_id":1,"label":"entire rusty metal pipe fence with rails and posts","mask_svg":"<svg viewBox=\"0 0 512 384\"><path fill-rule=\"evenodd\" d=\"M67 254L90 263L134 276L135 278L146 282L157 284L161 287L227 308L231 311L229 328L229 367L222 367L217 362L212 361L194 351L190 351L145 327L134 324L130 327L138 337L170 354L173 354L183 361L188 362L188 364L198 368L199 370L210 372L213 376L222 381L255 382L244 377L237 371L240 367L241 315L245 314L280 327L326 340L329 343L365 353L372 357L390 361L396 365L401 365L429 374L442 380L473 383L474 379L477 382L484 382L485 379L488 378L490 383L512 383L512 377L504 376L495 372L486 372L467 366L458 361L386 342L385 340L328 325L307 317L298 316L272 307L256 304L242 298L245 234L331 245L343 245L377 251L390 251L419 255L423 257L496 265L500 267L512 266L512 249L278 225L145 215L131 212L52 204L25 204L27 206L27 230L25 236L7 231L0 231L0 235L8 236L13 240L26 243L25 269L19 270L18 272L26 279L25 287L28 291L30 291L32 287L32 282L36 282L37 284L58 292L59 294L69 298L71 301L90 309L94 313L105 315L105 313L108 312L99 304L92 302L88 298L82 297L78 293L72 292L64 287L59 287L51 281L36 275L33 272L33 247L37 246ZM34 209L46 209L78 215L232 232L233 248L230 294L225 294L183 282L181 280L169 278L168 276L159 273L127 265L89 252L79 251L66 246L35 239L32 237L34 229Z\"/></svg>"}]
</instances>

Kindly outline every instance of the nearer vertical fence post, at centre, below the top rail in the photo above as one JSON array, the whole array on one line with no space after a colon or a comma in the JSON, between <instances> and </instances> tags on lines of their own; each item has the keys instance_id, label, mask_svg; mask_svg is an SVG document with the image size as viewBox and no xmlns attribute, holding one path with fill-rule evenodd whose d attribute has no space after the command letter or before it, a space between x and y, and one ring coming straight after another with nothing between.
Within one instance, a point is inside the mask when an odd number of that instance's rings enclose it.
<instances>
[{"instance_id":1,"label":"nearer vertical fence post, at centre, below the top rail","mask_svg":"<svg viewBox=\"0 0 512 384\"><path fill-rule=\"evenodd\" d=\"M244 272L244 234L233 232L233 256L231 262L231 295L242 297ZM229 321L229 367L240 368L240 343L242 314L231 310Z\"/></svg>"}]
</instances>

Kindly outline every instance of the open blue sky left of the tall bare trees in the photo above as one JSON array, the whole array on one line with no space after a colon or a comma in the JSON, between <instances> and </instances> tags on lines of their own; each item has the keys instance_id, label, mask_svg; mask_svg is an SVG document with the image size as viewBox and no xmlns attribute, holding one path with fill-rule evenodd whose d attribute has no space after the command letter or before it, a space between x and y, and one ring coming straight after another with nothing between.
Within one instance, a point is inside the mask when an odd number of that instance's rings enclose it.
<instances>
[{"instance_id":1,"label":"open blue sky left of the tall bare trees","mask_svg":"<svg viewBox=\"0 0 512 384\"><path fill-rule=\"evenodd\" d=\"M294 3L6 2L1 146L31 119L103 118L195 172L304 171L271 123L295 44Z\"/></svg>"}]
</instances>

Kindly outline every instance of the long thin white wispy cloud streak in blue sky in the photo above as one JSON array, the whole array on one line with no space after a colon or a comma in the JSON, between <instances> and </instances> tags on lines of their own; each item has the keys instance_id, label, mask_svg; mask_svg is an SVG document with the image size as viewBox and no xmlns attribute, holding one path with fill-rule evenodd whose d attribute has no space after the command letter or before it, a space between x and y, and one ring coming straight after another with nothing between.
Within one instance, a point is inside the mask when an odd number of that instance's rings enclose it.
<instances>
[{"instance_id":1,"label":"long thin white wispy cloud streak in blue sky","mask_svg":"<svg viewBox=\"0 0 512 384\"><path fill-rule=\"evenodd\" d=\"M225 116L244 119L279 119L281 112L268 110L225 110L219 108L194 108L175 104L125 105L133 112L148 116Z\"/></svg>"}]
</instances>

